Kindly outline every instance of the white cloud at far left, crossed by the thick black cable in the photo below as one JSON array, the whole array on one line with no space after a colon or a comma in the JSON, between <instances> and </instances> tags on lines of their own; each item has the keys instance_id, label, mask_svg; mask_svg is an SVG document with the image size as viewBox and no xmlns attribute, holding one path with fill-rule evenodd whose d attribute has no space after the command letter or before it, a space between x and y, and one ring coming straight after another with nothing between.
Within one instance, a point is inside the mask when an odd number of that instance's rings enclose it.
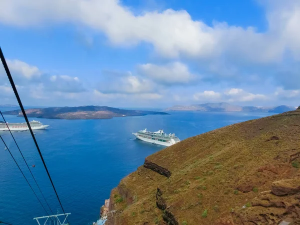
<instances>
[{"instance_id":1,"label":"white cloud at far left, crossed by the thick black cable","mask_svg":"<svg viewBox=\"0 0 300 225\"><path fill-rule=\"evenodd\" d=\"M27 99L47 100L49 102L53 99L67 99L73 93L86 91L78 77L49 75L41 71L37 66L18 59L6 59L6 61L19 94ZM3 79L0 79L1 96L10 97L9 99L14 101L15 96L12 88L5 83L8 79L4 78L4 70L0 71L0 76L3 76ZM59 97L57 93L61 93ZM32 105L32 102L30 105Z\"/></svg>"}]
</instances>

